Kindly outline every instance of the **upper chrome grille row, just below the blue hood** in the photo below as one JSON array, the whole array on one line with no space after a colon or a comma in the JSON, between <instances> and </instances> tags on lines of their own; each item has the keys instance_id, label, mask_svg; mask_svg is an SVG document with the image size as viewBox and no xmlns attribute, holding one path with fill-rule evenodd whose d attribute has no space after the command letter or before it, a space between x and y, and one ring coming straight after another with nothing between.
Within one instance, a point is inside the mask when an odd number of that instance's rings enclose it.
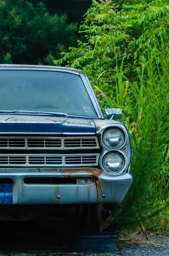
<instances>
[{"instance_id":1,"label":"upper chrome grille row, just below the blue hood","mask_svg":"<svg viewBox=\"0 0 169 256\"><path fill-rule=\"evenodd\" d=\"M0 137L0 149L92 149L100 148L97 137Z\"/></svg>"}]
</instances>

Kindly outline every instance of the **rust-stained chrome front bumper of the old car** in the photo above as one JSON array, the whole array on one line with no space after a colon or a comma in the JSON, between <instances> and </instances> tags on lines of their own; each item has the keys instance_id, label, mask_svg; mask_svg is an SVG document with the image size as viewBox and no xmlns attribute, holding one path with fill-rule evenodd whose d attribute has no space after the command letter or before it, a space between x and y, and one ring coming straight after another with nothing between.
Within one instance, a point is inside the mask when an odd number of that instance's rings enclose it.
<instances>
[{"instance_id":1,"label":"rust-stained chrome front bumper of the old car","mask_svg":"<svg viewBox=\"0 0 169 256\"><path fill-rule=\"evenodd\" d=\"M25 184L29 177L92 177L92 185ZM132 184L129 173L108 175L96 168L0 169L0 178L13 180L13 204L120 204Z\"/></svg>"}]
</instances>

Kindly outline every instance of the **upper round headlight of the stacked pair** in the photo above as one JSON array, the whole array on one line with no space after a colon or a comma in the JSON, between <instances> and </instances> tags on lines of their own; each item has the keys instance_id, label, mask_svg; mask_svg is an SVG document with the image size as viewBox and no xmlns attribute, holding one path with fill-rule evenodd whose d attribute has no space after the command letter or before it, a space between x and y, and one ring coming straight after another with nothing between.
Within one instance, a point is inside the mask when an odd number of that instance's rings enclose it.
<instances>
[{"instance_id":1,"label":"upper round headlight of the stacked pair","mask_svg":"<svg viewBox=\"0 0 169 256\"><path fill-rule=\"evenodd\" d=\"M124 134L117 128L110 128L103 134L103 142L109 148L119 148L124 142Z\"/></svg>"}]
</instances>

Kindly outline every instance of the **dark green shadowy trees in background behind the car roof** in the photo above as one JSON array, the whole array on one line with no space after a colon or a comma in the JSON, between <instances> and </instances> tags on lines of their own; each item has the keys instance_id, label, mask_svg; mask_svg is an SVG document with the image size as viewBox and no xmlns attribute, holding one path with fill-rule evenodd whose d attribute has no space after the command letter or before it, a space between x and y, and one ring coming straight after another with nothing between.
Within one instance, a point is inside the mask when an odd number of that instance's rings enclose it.
<instances>
[{"instance_id":1,"label":"dark green shadowy trees in background behind the car roof","mask_svg":"<svg viewBox=\"0 0 169 256\"><path fill-rule=\"evenodd\" d=\"M75 45L77 32L77 24L49 15L41 2L0 0L0 63L52 64Z\"/></svg>"}]
</instances>

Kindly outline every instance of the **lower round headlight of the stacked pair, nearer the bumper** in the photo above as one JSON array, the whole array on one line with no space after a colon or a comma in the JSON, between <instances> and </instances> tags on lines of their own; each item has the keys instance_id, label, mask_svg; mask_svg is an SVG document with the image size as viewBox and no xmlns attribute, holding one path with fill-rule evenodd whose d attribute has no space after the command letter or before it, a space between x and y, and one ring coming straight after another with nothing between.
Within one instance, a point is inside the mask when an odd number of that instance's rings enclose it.
<instances>
[{"instance_id":1,"label":"lower round headlight of the stacked pair, nearer the bumper","mask_svg":"<svg viewBox=\"0 0 169 256\"><path fill-rule=\"evenodd\" d=\"M103 166L107 172L120 172L124 166L124 158L115 152L106 154L103 159Z\"/></svg>"}]
</instances>

